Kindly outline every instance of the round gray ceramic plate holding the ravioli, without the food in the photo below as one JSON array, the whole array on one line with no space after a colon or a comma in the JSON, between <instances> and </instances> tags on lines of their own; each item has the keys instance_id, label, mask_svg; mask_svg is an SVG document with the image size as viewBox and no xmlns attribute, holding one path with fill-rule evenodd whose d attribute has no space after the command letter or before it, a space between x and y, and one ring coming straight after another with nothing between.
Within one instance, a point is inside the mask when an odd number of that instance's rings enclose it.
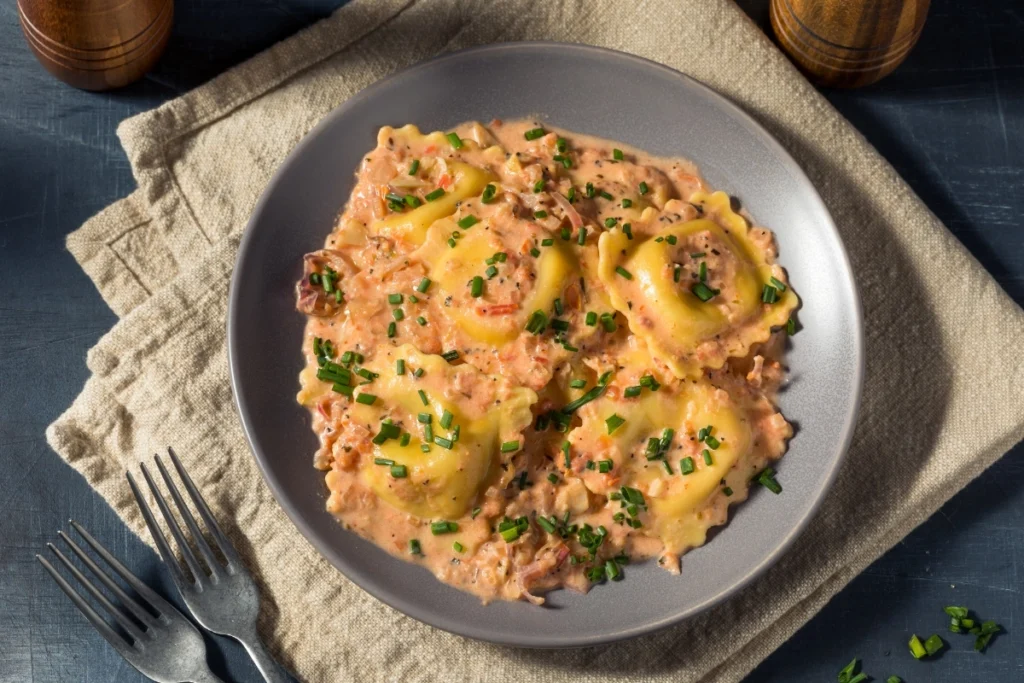
<instances>
[{"instance_id":1,"label":"round gray ceramic plate holding the ravioli, without the food","mask_svg":"<svg viewBox=\"0 0 1024 683\"><path fill-rule=\"evenodd\" d=\"M589 595L558 591L546 607L482 606L428 571L345 531L324 510L309 418L295 403L303 317L293 286L302 255L323 246L378 127L423 130L538 116L664 156L684 156L712 186L741 199L777 236L803 300L803 329L781 395L799 425L779 464L780 496L756 490L728 526L674 577L653 562ZM807 177L757 123L722 96L652 62L608 50L530 43L439 57L367 88L289 156L256 207L239 251L228 313L231 381L263 475L309 541L372 595L471 638L535 647L594 645L675 624L725 599L775 562L828 490L853 428L862 375L861 323L847 256Z\"/></svg>"}]
</instances>

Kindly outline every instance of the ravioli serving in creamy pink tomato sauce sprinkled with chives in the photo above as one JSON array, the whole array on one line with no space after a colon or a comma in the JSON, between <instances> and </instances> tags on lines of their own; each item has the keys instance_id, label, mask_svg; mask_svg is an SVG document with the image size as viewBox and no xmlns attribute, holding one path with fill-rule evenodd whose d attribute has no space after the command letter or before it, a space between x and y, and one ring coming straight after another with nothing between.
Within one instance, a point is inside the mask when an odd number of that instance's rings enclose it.
<instances>
[{"instance_id":1,"label":"ravioli serving in creamy pink tomato sauce sprinkled with chives","mask_svg":"<svg viewBox=\"0 0 1024 683\"><path fill-rule=\"evenodd\" d=\"M382 128L297 286L328 509L484 601L678 571L778 488L775 258L683 160L536 121Z\"/></svg>"}]
</instances>

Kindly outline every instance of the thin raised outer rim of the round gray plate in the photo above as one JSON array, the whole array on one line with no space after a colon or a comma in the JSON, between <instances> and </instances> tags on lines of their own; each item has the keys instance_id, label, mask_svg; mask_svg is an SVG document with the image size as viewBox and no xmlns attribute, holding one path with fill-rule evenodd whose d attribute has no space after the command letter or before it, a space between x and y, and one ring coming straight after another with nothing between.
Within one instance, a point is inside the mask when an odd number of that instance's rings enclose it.
<instances>
[{"instance_id":1,"label":"thin raised outer rim of the round gray plate","mask_svg":"<svg viewBox=\"0 0 1024 683\"><path fill-rule=\"evenodd\" d=\"M239 391L239 378L241 376L241 370L239 368L239 357L241 352L238 347L241 343L237 333L238 324L236 323L236 317L239 311L238 301L242 296L242 287L240 286L239 272L241 268L239 265L243 262L246 254L248 253L254 238L254 230L252 229L257 223L260 215L262 214L265 205L270 201L273 188L279 184L281 178L286 175L291 168L291 166L296 162L297 158L302 155L303 150L307 145L311 145L319 133L331 126L335 119L341 118L345 113L351 108L355 106L357 103L371 98L378 90L387 87L388 83L396 77L408 76L410 74L415 74L420 70L425 70L429 67L433 67L438 62L443 62L447 60L456 60L465 58L467 55L474 55L483 52L503 52L503 51L514 51L514 50L537 50L537 49L555 49L555 50L570 50L579 51L594 55L598 58L614 58L623 59L626 61L632 61L636 65L647 69L654 69L663 72L667 76L671 76L675 79L681 79L683 82L687 83L690 87L702 90L706 95L715 100L724 110L728 111L735 120L742 125L744 128L752 130L768 147L770 147L774 153L777 154L780 165L784 170L786 170L799 183L805 185L808 190L808 198L817 205L821 214L826 218L823 228L827 229L833 238L835 239L837 245L839 246L839 255L842 259L844 265L843 281L845 281L845 286L848 288L850 296L853 303L853 326L854 326L854 338L853 338L853 352L854 352L854 386L850 387L852 389L852 400L846 412L846 418L842 428L842 435L838 442L839 454L834 459L830 469L827 474L821 478L817 490L813 492L813 500L810 501L810 505L807 508L806 513L799 519L799 521L793 525L785 537L779 542L775 548L767 553L764 558L761 559L756 565L752 566L746 573L740 579L733 582L728 587L722 589L717 595L712 598L705 600L700 603L693 605L688 609L679 611L659 620L647 622L641 626L632 627L625 631L614 631L609 632L602 636L580 636L573 637L571 635L565 636L560 639L552 640L550 637L546 637L543 640L531 639L528 634L518 634L518 639L513 641L510 639L501 639L495 637L488 637L481 635L479 633L472 632L468 629L460 629L458 624L452 624L450 622L440 622L434 617L433 613L429 610L420 609L416 605L412 605L408 602L403 602L400 598L397 598L394 594L386 593L382 591L372 590L368 587L367 583L361 580L361 577L355 575L356 572L350 572L349 567L342 568L339 565L339 554L329 544L325 539L319 538L316 532L312 529L311 525L307 523L304 516L300 513L299 509L294 506L287 496L283 493L283 486L278 481L276 477L270 474L269 463L266 456L257 446L257 441L253 436L254 421L249 409L246 407L242 399L242 394ZM651 59L641 57L629 52L623 52L621 50L614 50L606 47L598 47L593 45L584 45L579 43L566 43L559 41L521 41L521 42L503 42L494 43L487 45L477 45L473 47L468 47L453 52L446 52L443 54L436 55L434 57L418 61L414 65L399 69L380 80L372 83L371 85L359 90L357 93L341 102L333 110L328 112L308 132L303 135L302 139L292 147L285 159L281 162L279 167L274 170L270 179L264 186L259 200L253 207L252 213L249 219L246 221L246 227L243 232L242 239L239 244L238 254L236 255L234 263L232 266L230 286L228 291L228 304L227 304L227 360L228 360L228 374L230 377L231 393L233 395L233 402L236 409L238 410L239 419L242 423L243 433L245 434L246 441L249 444L249 450L252 456L255 458L257 466L260 470L260 475L263 481L270 488L270 493L273 495L274 500L278 505L284 510L285 514L291 520L291 522L298 528L299 532L316 549L316 551L333 566L337 569L343 577L353 584L358 586L362 591L371 595L373 598L380 600L381 602L389 605L390 607L400 611L403 614L412 616L419 622L422 622L428 626L431 626L442 631L453 633L458 636L465 638L470 638L472 640L479 640L483 642L490 642L499 645L516 646L516 647L529 647L535 649L554 649L554 648L564 648L564 647L589 647L595 645L603 645L612 642L618 642L624 640L629 640L637 638L643 635L648 635L662 631L671 626L680 624L681 622L695 616L708 609L711 609L717 604L728 600L729 598L736 595L738 592L750 586L755 580L764 574L772 565L781 559L786 552L792 548L796 540L804 532L807 526L810 524L811 520L817 515L821 504L824 502L827 493L831 489L833 484L836 481L839 471L842 468L843 463L849 454L850 444L853 439L853 433L857 425L857 418L860 412L860 404L863 392L864 383L864 373L865 373L865 358L864 358L864 324L863 324L863 309L860 298L860 293L857 288L857 283L854 274L853 265L850 261L850 255L846 249L846 245L843 242L842 234L839 228L836 226L836 222L833 219L831 213L828 211L827 205L821 196L818 194L817 188L814 183L804 172L803 168L788 151L779 142L774 135L771 134L763 125L761 125L751 114L741 109L739 105L735 104L731 99L712 87L701 83L697 79L688 76L672 67L668 67L663 63L658 63ZM810 496L808 498L811 498ZM389 556L390 557L390 556ZM400 558L390 557L395 561L402 561ZM344 562L340 562L344 564ZM436 579L435 579L436 581Z\"/></svg>"}]
</instances>

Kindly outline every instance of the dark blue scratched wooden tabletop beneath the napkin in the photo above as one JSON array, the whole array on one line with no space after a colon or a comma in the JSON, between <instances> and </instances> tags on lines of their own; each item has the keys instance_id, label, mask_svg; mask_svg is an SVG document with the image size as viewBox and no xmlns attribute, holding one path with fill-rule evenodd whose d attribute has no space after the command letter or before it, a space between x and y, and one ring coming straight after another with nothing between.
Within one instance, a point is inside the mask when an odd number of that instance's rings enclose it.
<instances>
[{"instance_id":1,"label":"dark blue scratched wooden tabletop beneath the napkin","mask_svg":"<svg viewBox=\"0 0 1024 683\"><path fill-rule=\"evenodd\" d=\"M43 72L22 39L15 0L0 0L0 682L144 680L34 559L69 517L175 596L156 556L43 437L85 382L86 349L116 321L63 250L65 236L135 186L115 127L341 1L178 0L157 70L126 90L89 94ZM741 4L765 25L765 0ZM826 93L1018 303L1022 35L1019 0L933 0L921 43L896 74ZM1009 633L985 654L970 638L950 637L941 657L914 661L909 634L942 632L946 604L966 604ZM209 644L225 680L259 680L240 647L220 638ZM907 683L1024 681L1024 446L871 565L750 680L831 681L854 656L881 681L893 674Z\"/></svg>"}]
</instances>

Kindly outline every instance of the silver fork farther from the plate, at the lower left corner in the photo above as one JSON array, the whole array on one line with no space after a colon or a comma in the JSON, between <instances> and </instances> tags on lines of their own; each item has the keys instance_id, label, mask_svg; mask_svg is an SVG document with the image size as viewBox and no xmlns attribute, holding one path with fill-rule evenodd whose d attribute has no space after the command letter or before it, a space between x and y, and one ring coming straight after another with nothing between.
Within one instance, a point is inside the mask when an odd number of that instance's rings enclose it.
<instances>
[{"instance_id":1,"label":"silver fork farther from the plate, at the lower left corner","mask_svg":"<svg viewBox=\"0 0 1024 683\"><path fill-rule=\"evenodd\" d=\"M96 554L103 558L103 561L157 612L154 615L137 600L125 593L77 543L63 531L57 531L57 536L78 555L82 563L99 580L99 583L117 596L121 604L138 620L138 623L135 623L123 610L118 609L78 567L72 564L71 560L56 546L52 543L46 544L46 547L53 551L56 558L85 588L86 592L110 612L129 638L126 639L123 634L115 631L106 620L57 572L45 557L36 555L36 559L50 572L60 590L92 623L99 635L105 638L106 642L131 666L158 683L182 683L183 681L222 683L206 665L206 644L203 642L203 636L199 629L193 626L191 622L185 618L173 605L157 595L135 574L128 571L125 565L121 564L105 548L99 545L99 542L93 539L78 522L72 519L70 523ZM139 628L138 624L141 624L142 627Z\"/></svg>"}]
</instances>

